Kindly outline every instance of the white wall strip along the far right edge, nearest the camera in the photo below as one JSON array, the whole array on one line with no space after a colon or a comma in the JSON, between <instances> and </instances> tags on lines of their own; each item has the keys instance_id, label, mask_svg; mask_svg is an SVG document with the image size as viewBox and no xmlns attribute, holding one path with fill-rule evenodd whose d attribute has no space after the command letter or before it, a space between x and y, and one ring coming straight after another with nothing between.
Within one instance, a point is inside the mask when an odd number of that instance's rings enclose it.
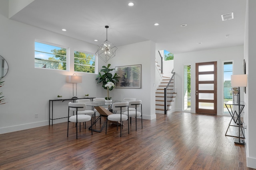
<instances>
[{"instance_id":1,"label":"white wall strip along the far right edge, nearest the camera","mask_svg":"<svg viewBox=\"0 0 256 170\"><path fill-rule=\"evenodd\" d=\"M256 84L255 63L256 63L256 1L247 0L246 2L246 24L245 24L245 39L244 39L244 58L246 60L246 74L248 76L248 84L245 102L245 126L246 126L246 158L247 166L256 168L256 114L255 114L255 96Z\"/></svg>"}]
</instances>

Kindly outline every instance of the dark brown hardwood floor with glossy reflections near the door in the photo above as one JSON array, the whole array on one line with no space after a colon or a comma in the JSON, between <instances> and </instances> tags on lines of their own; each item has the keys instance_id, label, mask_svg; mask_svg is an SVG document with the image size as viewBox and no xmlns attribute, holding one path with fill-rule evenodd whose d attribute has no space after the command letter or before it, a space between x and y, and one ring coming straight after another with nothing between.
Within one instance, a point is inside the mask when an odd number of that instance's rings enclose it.
<instances>
[{"instance_id":1,"label":"dark brown hardwood floor with glossy reflections near the door","mask_svg":"<svg viewBox=\"0 0 256 170\"><path fill-rule=\"evenodd\" d=\"M75 124L38 127L0 135L1 170L253 170L246 167L245 147L225 132L230 117L175 112L140 119L122 137L116 125L107 135ZM99 123L96 124L98 127ZM82 125L81 125L82 128ZM105 130L105 129L104 129Z\"/></svg>"}]
</instances>

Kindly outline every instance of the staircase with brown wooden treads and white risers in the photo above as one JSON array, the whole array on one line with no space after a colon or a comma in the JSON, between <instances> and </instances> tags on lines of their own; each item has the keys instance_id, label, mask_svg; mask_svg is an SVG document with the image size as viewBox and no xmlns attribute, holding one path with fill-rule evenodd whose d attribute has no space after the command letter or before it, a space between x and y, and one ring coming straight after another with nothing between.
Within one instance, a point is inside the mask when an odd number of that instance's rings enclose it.
<instances>
[{"instance_id":1,"label":"staircase with brown wooden treads and white risers","mask_svg":"<svg viewBox=\"0 0 256 170\"><path fill-rule=\"evenodd\" d=\"M170 81L170 77L164 77L162 79L162 82L160 83L160 85L158 86L157 90L156 90L156 113L162 113L164 114L164 88L166 88L166 85L168 84L168 82ZM173 85L171 84L171 86L173 87ZM169 93L170 94L170 93ZM176 94L176 93L173 93ZM167 97L167 106L166 106L166 110L170 110L170 107L172 106L172 102L174 102L174 98L176 96L171 95L171 97Z\"/></svg>"}]
</instances>

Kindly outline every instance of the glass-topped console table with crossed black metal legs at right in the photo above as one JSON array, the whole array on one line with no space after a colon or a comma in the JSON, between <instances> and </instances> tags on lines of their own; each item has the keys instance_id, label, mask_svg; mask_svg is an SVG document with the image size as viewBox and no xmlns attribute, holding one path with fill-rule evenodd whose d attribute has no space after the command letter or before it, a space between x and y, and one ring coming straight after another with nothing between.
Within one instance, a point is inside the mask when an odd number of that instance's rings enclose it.
<instances>
[{"instance_id":1,"label":"glass-topped console table with crossed black metal legs at right","mask_svg":"<svg viewBox=\"0 0 256 170\"><path fill-rule=\"evenodd\" d=\"M242 110L244 109L244 102L240 102L240 110L239 110L238 113L237 113L237 111L234 110L234 109L232 109L232 107L233 107L233 106L238 106L238 105L239 105L239 104L238 104L237 102L233 102L233 101L228 101L228 102L225 104L225 106L226 106L227 109L228 109L228 112L229 112L230 115L231 115L231 119L230 119L230 122L229 122L229 124L228 124L228 129L229 129L230 126L238 127L238 130L239 130L239 131L240 131L240 130L242 131L242 137L240 137L240 138L244 138L244 131L243 131L243 126L242 126L243 123L242 123L241 120L240 120L240 122L239 122L239 119L238 119L238 117L240 117L241 114L242 114ZM236 117L235 117L235 114L236 114ZM235 123L236 125L230 125L231 122L232 122L232 120L234 121L234 123ZM239 123L240 123L240 126L239 126ZM239 129L239 127L241 127L241 129ZM227 135L228 129L227 129L227 131L226 131L226 133L225 133L225 136L238 137L238 136L234 136L234 135Z\"/></svg>"}]
</instances>

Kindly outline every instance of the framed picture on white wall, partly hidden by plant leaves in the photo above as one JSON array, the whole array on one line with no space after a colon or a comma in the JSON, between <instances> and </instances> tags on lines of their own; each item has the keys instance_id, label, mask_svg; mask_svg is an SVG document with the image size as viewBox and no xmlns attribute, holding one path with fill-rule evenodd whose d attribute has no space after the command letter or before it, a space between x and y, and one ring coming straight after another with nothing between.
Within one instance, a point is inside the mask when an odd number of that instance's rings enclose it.
<instances>
[{"instance_id":1,"label":"framed picture on white wall, partly hidden by plant leaves","mask_svg":"<svg viewBox=\"0 0 256 170\"><path fill-rule=\"evenodd\" d=\"M115 72L120 77L116 88L141 88L141 64L116 66Z\"/></svg>"}]
</instances>

